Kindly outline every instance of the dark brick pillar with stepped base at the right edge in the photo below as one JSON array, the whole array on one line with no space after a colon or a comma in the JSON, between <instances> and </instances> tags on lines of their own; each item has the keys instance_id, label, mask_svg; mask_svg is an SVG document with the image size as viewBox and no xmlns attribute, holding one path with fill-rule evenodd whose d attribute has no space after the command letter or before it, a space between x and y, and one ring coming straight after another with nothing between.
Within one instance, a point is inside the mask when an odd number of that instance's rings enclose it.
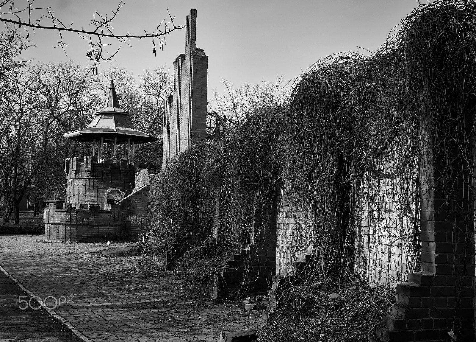
<instances>
[{"instance_id":1,"label":"dark brick pillar with stepped base at the right edge","mask_svg":"<svg viewBox=\"0 0 476 342\"><path fill-rule=\"evenodd\" d=\"M475 341L472 175L456 143L473 139L468 132L458 132L462 136L453 145L442 144L436 141L431 125L430 117L424 117L421 271L410 273L407 282L397 285L392 315L385 316L382 327L377 328L377 341L448 341L450 331L458 342ZM468 139L462 139L465 134ZM437 148L439 144L449 147ZM470 151L471 147L463 149Z\"/></svg>"}]
</instances>

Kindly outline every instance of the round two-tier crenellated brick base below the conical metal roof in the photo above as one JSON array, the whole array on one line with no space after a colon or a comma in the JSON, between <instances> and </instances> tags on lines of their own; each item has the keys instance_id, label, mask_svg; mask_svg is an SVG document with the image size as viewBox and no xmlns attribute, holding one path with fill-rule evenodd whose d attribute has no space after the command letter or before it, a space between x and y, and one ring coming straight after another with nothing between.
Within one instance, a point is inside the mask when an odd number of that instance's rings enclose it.
<instances>
[{"instance_id":1,"label":"round two-tier crenellated brick base below the conical metal roof","mask_svg":"<svg viewBox=\"0 0 476 342\"><path fill-rule=\"evenodd\" d=\"M47 240L98 242L139 237L147 215L149 171L135 172L128 160L96 160L85 156L64 161L67 203L47 201L43 213ZM107 203L109 191L118 191L122 200Z\"/></svg>"}]
</instances>

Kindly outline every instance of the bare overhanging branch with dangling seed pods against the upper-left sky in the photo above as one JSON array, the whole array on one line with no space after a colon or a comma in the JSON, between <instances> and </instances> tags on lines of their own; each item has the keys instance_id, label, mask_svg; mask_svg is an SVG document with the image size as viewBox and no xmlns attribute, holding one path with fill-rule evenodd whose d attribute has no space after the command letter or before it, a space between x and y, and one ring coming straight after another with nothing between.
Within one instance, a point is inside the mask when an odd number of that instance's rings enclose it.
<instances>
[{"instance_id":1,"label":"bare overhanging branch with dangling seed pods against the upper-left sky","mask_svg":"<svg viewBox=\"0 0 476 342\"><path fill-rule=\"evenodd\" d=\"M72 23L64 23L50 7L36 7L34 5L35 0L16 0L16 2L17 5L20 3L20 6L15 5L13 0L0 0L0 21L13 26L10 33L12 39L18 30L23 30L27 39L30 35L29 30L54 30L58 32L60 38L57 47L64 49L66 42L63 39L63 34L75 33L88 42L89 48L86 51L86 56L94 63L100 60L112 59L119 50L108 53L104 49L110 45L105 41L107 39L115 39L120 43L128 44L128 41L131 39L149 38L152 39L152 52L156 53L156 42L159 45L159 49L162 49L163 44L165 44L165 36L183 28L183 26L175 25L174 18L167 9L167 19L163 19L156 28L150 31L144 30L144 33L141 34L129 32L116 33L112 27L112 21L124 6L123 0L119 1L119 4L112 10L109 16L101 15L97 11L94 12L90 29L74 27Z\"/></svg>"}]
</instances>

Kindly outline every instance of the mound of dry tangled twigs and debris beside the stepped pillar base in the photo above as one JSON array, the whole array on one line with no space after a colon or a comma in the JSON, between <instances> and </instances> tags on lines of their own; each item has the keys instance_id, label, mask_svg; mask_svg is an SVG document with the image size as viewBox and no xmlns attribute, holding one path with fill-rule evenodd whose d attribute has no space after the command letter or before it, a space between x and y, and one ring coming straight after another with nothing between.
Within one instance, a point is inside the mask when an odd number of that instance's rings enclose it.
<instances>
[{"instance_id":1,"label":"mound of dry tangled twigs and debris beside the stepped pillar base","mask_svg":"<svg viewBox=\"0 0 476 342\"><path fill-rule=\"evenodd\" d=\"M293 291L283 292L280 306L267 321L262 313L259 341L367 341L395 298L388 288L365 283L356 287L351 279L327 278L319 283L295 284Z\"/></svg>"}]
</instances>

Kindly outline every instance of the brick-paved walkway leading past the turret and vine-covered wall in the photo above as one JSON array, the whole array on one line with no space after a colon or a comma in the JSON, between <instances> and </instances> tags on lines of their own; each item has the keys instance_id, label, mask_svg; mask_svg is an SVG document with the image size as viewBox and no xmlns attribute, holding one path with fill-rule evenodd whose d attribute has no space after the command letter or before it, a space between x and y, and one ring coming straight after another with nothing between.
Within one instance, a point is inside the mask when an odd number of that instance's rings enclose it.
<instances>
[{"instance_id":1,"label":"brick-paved walkway leading past the turret and vine-covered wall","mask_svg":"<svg viewBox=\"0 0 476 342\"><path fill-rule=\"evenodd\" d=\"M98 253L108 247L0 235L0 266L43 300L72 298L54 311L94 342L218 341L222 331L259 325L259 312L188 295L172 272L145 257ZM46 304L53 307L55 301L50 297Z\"/></svg>"}]
</instances>

